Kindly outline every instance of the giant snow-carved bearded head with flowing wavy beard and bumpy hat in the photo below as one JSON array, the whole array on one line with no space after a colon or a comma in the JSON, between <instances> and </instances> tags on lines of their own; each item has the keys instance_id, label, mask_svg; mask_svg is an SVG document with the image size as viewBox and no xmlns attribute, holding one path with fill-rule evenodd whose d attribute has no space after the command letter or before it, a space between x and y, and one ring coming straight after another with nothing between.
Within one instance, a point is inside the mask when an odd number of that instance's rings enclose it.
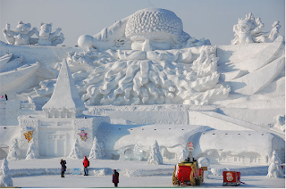
<instances>
[{"instance_id":1,"label":"giant snow-carved bearded head with flowing wavy beard and bumpy hat","mask_svg":"<svg viewBox=\"0 0 286 189\"><path fill-rule=\"evenodd\" d=\"M86 52L68 61L86 105L208 104L230 92L218 83L216 46L189 37L171 11L140 10L78 43Z\"/></svg>"}]
</instances>

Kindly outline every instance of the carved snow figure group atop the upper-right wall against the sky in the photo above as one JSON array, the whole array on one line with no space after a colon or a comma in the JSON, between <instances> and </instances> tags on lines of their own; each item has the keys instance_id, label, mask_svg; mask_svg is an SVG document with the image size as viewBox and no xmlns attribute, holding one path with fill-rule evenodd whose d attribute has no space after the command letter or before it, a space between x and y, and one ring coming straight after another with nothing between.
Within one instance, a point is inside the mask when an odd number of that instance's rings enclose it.
<instances>
[{"instance_id":1,"label":"carved snow figure group atop the upper-right wall against the sky","mask_svg":"<svg viewBox=\"0 0 286 189\"><path fill-rule=\"evenodd\" d=\"M249 43L271 43L280 36L281 28L279 21L274 21L270 32L261 32L264 24L260 18L255 19L252 13L248 13L244 19L239 19L238 24L233 26L234 39L231 45Z\"/></svg>"}]
</instances>

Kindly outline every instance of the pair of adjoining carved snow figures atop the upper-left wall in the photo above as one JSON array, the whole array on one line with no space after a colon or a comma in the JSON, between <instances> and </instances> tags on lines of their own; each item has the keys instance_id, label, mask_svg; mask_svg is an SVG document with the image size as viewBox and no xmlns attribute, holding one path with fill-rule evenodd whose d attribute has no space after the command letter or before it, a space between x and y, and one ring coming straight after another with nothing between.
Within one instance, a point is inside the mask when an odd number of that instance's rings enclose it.
<instances>
[{"instance_id":1,"label":"pair of adjoining carved snow figures atop the upper-left wall","mask_svg":"<svg viewBox=\"0 0 286 189\"><path fill-rule=\"evenodd\" d=\"M62 29L58 28L54 33L52 32L52 23L41 23L40 31L34 27L31 28L30 23L23 23L19 21L16 29L10 29L10 24L7 23L3 29L4 38L9 45L58 45L64 41ZM36 34L36 38L32 37Z\"/></svg>"}]
</instances>

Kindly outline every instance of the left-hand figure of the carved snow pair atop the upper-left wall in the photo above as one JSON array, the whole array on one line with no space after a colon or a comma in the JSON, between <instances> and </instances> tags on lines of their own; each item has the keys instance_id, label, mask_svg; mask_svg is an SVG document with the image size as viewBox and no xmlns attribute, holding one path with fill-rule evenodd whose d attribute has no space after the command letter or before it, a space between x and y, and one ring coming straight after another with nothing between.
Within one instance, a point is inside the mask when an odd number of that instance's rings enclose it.
<instances>
[{"instance_id":1,"label":"left-hand figure of the carved snow pair atop the upper-left wall","mask_svg":"<svg viewBox=\"0 0 286 189\"><path fill-rule=\"evenodd\" d=\"M6 28L3 29L4 37L10 45L33 45L38 42L38 38L32 38L31 36L37 31L37 28L30 30L30 23L18 22L16 29L11 30L10 24L6 24Z\"/></svg>"}]
</instances>

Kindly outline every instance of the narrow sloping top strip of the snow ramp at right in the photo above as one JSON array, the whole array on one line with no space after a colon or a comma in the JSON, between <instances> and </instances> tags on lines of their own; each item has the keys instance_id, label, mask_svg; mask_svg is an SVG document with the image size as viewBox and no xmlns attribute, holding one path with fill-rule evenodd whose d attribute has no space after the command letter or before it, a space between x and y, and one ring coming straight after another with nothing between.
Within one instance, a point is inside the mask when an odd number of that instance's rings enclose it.
<instances>
[{"instance_id":1,"label":"narrow sloping top strip of the snow ramp at right","mask_svg":"<svg viewBox=\"0 0 286 189\"><path fill-rule=\"evenodd\" d=\"M260 126L257 126L256 124L252 124L252 123L249 123L249 122L244 121L244 120L234 119L234 118L231 118L229 116L225 116L223 114L220 114L220 113L217 113L217 112L214 112L214 111L203 111L203 112L201 111L200 113L205 114L205 115L207 115L209 117L213 117L213 118L216 118L216 119L221 119L223 121L230 122L230 123L238 125L240 127L248 128L250 130L272 133L272 134L274 134L276 136L282 137L282 139L285 138L284 133L280 133L280 132L274 131L274 130L269 129L269 128L260 127Z\"/></svg>"}]
</instances>

